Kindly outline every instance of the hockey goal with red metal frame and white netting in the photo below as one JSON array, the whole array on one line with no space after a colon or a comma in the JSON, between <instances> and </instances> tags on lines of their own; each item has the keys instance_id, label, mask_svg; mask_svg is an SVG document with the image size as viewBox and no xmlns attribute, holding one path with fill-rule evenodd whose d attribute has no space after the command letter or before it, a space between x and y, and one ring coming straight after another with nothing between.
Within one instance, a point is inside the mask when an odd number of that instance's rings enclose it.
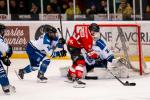
<instances>
[{"instance_id":1,"label":"hockey goal with red metal frame and white netting","mask_svg":"<svg viewBox=\"0 0 150 100\"><path fill-rule=\"evenodd\" d=\"M75 25L75 32L87 31L89 24ZM142 56L140 26L137 24L99 24L100 38L116 57L127 59L129 69L143 74L146 64Z\"/></svg>"}]
</instances>

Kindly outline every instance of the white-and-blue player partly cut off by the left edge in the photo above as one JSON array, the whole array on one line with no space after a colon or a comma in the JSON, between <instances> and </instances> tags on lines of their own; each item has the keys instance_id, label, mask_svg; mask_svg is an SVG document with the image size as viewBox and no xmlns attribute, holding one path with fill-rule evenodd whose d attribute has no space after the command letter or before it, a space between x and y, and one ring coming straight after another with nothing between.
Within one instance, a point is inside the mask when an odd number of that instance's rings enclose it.
<instances>
[{"instance_id":1,"label":"white-and-blue player partly cut off by the left edge","mask_svg":"<svg viewBox=\"0 0 150 100\"><path fill-rule=\"evenodd\" d=\"M11 92L15 92L15 87L10 85L3 64L7 67L10 66L11 61L9 58L11 57L13 51L12 47L4 42L4 30L5 26L0 24L0 85L2 86L5 94L10 94Z\"/></svg>"}]
</instances>

